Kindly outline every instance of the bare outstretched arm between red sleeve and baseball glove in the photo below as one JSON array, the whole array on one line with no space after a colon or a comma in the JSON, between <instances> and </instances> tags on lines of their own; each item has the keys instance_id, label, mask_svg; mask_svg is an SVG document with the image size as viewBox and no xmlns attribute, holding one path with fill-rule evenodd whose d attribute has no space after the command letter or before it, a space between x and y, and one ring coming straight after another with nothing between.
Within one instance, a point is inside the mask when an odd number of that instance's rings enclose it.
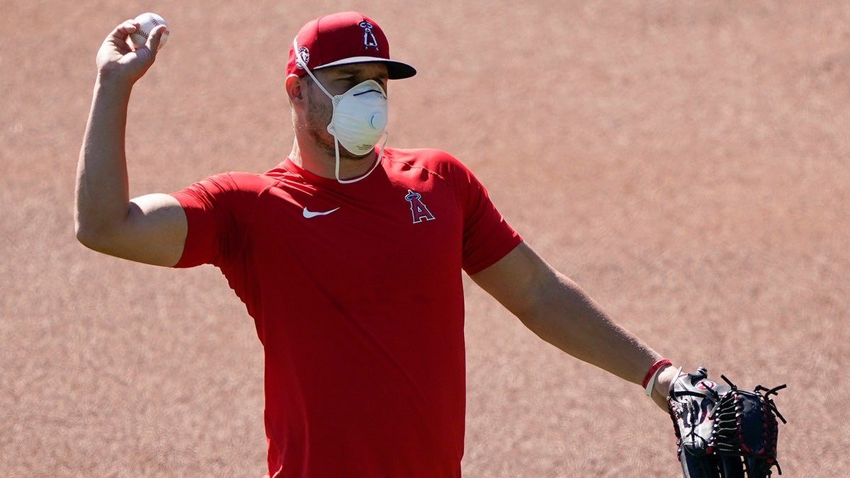
<instances>
[{"instance_id":1,"label":"bare outstretched arm between red sleeve and baseball glove","mask_svg":"<svg viewBox=\"0 0 850 478\"><path fill-rule=\"evenodd\" d=\"M629 382L641 384L660 359L524 242L472 278L541 339ZM655 382L652 398L665 410L675 375L676 369L667 366Z\"/></svg>"}]
</instances>

